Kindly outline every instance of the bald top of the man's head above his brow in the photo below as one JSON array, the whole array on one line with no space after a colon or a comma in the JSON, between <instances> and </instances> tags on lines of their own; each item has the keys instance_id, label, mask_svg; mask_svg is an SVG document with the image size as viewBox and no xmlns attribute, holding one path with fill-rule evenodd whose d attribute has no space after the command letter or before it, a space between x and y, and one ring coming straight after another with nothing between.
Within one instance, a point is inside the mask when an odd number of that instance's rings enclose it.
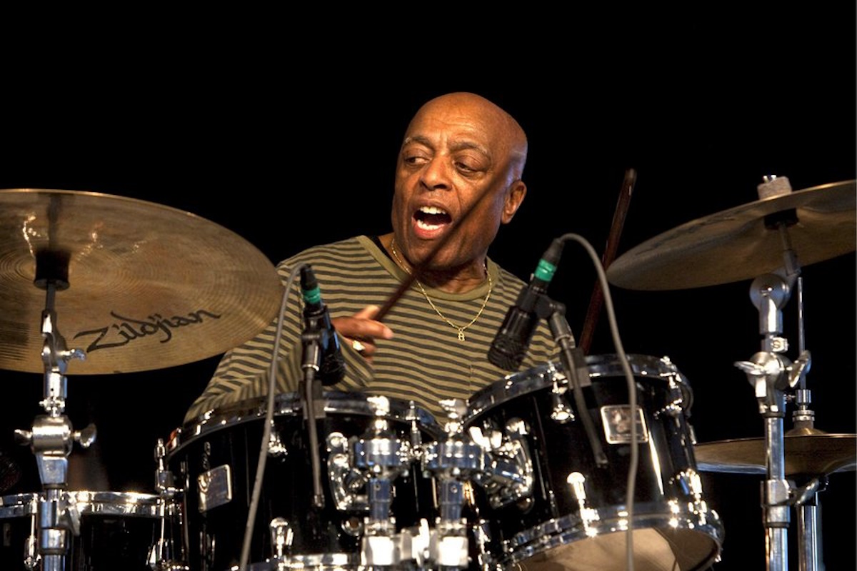
<instances>
[{"instance_id":1,"label":"bald top of the man's head above his brow","mask_svg":"<svg viewBox=\"0 0 857 571\"><path fill-rule=\"evenodd\" d=\"M411 128L427 116L458 117L461 122L476 122L497 145L501 160L512 180L519 180L527 161L527 137L515 118L494 102L470 92L452 92L428 100L411 119L405 135L407 140ZM454 119L453 119L454 120ZM505 155L505 157L503 157Z\"/></svg>"}]
</instances>

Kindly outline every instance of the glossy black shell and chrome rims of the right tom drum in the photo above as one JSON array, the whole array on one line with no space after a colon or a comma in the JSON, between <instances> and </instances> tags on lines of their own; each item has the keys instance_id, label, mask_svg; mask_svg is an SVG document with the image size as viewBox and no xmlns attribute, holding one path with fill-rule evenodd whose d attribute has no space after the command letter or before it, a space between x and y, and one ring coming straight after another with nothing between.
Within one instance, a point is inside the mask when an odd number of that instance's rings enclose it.
<instances>
[{"instance_id":1,"label":"glossy black shell and chrome rims of the right tom drum","mask_svg":"<svg viewBox=\"0 0 857 571\"><path fill-rule=\"evenodd\" d=\"M679 568L704 568L719 553L722 526L716 513L707 508L696 471L689 424L692 390L665 358L628 355L628 363L642 417L630 525L659 533L662 529L671 533L671 526L677 525L682 536L679 543L690 544L686 548L689 554L676 555ZM591 536L603 537L628 525L623 514L631 444L628 433L611 424L617 414L628 419L626 377L616 355L590 356L586 364L589 378L582 383L587 385L582 393L608 461L605 467L596 463L572 385L560 366L510 375L470 398L464 423L469 430L508 431L511 425L525 426L533 480L530 497L497 506L482 487L474 489L473 517L488 528L489 554L483 557L500 566L536 559L561 561L566 557L561 547ZM554 386L560 395L555 394ZM558 422L551 418L558 399L572 409L576 419ZM628 426L625 423L623 428ZM571 484L572 474L583 482L584 507L594 509L598 520L585 520L580 495ZM671 540L674 538L668 538ZM574 547L577 552L583 549ZM622 554L617 555L616 568L624 568Z\"/></svg>"}]
</instances>

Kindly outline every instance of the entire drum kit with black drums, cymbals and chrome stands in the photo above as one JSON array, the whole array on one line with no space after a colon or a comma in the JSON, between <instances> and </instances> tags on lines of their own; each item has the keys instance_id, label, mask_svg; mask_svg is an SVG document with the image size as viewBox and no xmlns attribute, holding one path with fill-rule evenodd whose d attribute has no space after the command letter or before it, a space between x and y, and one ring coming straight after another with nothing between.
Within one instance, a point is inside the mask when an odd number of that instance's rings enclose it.
<instances>
[{"instance_id":1,"label":"entire drum kit with black drums, cymbals and chrome stands","mask_svg":"<svg viewBox=\"0 0 857 571\"><path fill-rule=\"evenodd\" d=\"M704 569L724 526L700 472L721 472L764 477L768 568L788 568L795 508L800 568L813 570L824 477L857 466L854 435L814 427L810 354L789 360L782 334L800 265L855 249L854 181L792 191L766 178L757 201L606 268L610 283L643 290L752 280L762 346L734 365L763 438L696 442L678 367L617 352L585 356L579 386L545 363L441 401L443 422L413 402L320 388L315 402L312 390L241 401L154 443L153 494L69 490L69 455L96 431L66 416L67 373L147 371L240 345L278 311L273 264L216 223L141 200L22 188L0 190L0 204L0 369L44 374L45 413L15 431L42 489L0 497L12 568Z\"/></svg>"}]
</instances>

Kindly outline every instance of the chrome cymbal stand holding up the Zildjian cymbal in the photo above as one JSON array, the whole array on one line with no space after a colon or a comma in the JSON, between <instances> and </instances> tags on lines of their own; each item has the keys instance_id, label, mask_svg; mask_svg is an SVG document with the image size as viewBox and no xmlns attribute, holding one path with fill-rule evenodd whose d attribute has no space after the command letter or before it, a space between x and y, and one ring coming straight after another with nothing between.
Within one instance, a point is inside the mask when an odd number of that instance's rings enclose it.
<instances>
[{"instance_id":1,"label":"chrome cymbal stand holding up the Zildjian cymbal","mask_svg":"<svg viewBox=\"0 0 857 571\"><path fill-rule=\"evenodd\" d=\"M36 253L35 284L44 288L45 310L42 312L42 360L45 362L45 399L39 404L44 415L33 421L32 431L15 430L21 444L29 444L36 455L39 478L44 494L39 496L38 553L42 571L62 571L69 550L69 530L79 535L81 515L75 498L67 491L69 472L68 456L76 441L87 448L95 442L95 426L73 431L65 416L67 379L66 368L70 359L84 359L79 349L68 349L65 339L57 330L54 300L57 290L69 287L69 255L56 251Z\"/></svg>"}]
</instances>

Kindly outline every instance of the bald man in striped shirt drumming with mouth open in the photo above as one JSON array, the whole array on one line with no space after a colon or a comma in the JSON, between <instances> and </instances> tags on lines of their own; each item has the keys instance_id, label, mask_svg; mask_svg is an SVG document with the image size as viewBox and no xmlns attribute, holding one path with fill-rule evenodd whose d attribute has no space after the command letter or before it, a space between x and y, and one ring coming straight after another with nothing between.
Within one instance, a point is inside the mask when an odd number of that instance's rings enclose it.
<instances>
[{"instance_id":1,"label":"bald man in striped shirt drumming with mouth open","mask_svg":"<svg viewBox=\"0 0 857 571\"><path fill-rule=\"evenodd\" d=\"M415 401L440 419L441 399L467 399L508 373L488 362L488 348L524 283L488 259L488 247L524 200L526 156L523 129L495 104L465 92L434 98L399 152L393 232L311 247L279 265L284 281L299 264L318 278L345 357L345 378L329 389ZM376 320L417 268L411 288ZM286 307L278 392L303 380L297 296L295 288ZM267 393L275 331L271 324L225 355L187 421ZM521 367L556 355L539 324Z\"/></svg>"}]
</instances>

